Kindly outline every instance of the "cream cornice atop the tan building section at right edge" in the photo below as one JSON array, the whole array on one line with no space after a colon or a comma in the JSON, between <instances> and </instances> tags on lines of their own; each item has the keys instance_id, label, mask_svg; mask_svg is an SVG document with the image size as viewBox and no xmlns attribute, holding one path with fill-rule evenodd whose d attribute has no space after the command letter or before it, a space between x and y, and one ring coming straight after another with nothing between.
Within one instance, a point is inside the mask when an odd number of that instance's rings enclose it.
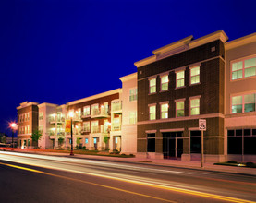
<instances>
[{"instance_id":1,"label":"cream cornice atop the tan building section at right edge","mask_svg":"<svg viewBox=\"0 0 256 203\"><path fill-rule=\"evenodd\" d=\"M256 32L254 32L250 35L238 38L234 41L226 42L225 48L226 48L226 50L229 50L229 49L233 49L238 46L242 46L242 45L252 43L252 42L256 42Z\"/></svg>"}]
</instances>

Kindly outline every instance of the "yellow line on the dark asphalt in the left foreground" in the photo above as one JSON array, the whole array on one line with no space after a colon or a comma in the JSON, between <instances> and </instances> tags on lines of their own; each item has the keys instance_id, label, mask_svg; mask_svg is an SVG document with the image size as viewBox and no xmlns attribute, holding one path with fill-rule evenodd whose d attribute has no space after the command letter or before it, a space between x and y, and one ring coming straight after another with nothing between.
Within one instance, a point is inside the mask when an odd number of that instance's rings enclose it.
<instances>
[{"instance_id":1,"label":"yellow line on the dark asphalt in the left foreground","mask_svg":"<svg viewBox=\"0 0 256 203\"><path fill-rule=\"evenodd\" d=\"M132 191L125 190L125 189L120 189L120 188L113 187L113 186L95 184L95 183L92 183L92 182L89 182L89 181L83 181L83 180L79 180L79 179L75 179L75 178L70 178L70 177L66 177L66 176L62 176L62 175L57 175L57 174L53 174L53 173L46 173L46 172L43 172L43 171L39 171L39 170L35 170L35 169L30 169L30 168L22 167L22 166L18 166L18 165L7 164L7 163L2 163L2 162L0 162L0 164L6 165L6 166L12 167L12 168L17 168L17 169L29 171L29 172L42 173L42 174L46 174L46 175L50 175L50 176L54 176L54 177L58 177L58 178L62 178L62 179L67 179L67 180L71 180L71 181L77 181L77 182L81 182L81 183L84 183L84 184L101 186L101 187L104 187L104 188L113 189L113 190L129 193L129 194L133 194L133 195L137 195L137 196L141 196L141 197L149 197L149 198L153 198L153 199L157 199L157 200L161 200L161 201L165 201L165 202L177 203L177 201L171 201L171 200L168 200L168 199L165 199L165 198L148 196L148 195L145 195L145 194L136 193L136 192L132 192Z\"/></svg>"}]
</instances>

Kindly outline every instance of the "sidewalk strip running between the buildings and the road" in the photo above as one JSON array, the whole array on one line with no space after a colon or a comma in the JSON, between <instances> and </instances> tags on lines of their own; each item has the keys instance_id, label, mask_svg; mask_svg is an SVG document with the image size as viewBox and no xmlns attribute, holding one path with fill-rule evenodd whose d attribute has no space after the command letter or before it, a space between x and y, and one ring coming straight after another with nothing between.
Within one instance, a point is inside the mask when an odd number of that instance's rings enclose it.
<instances>
[{"instance_id":1,"label":"sidewalk strip running between the buildings and the road","mask_svg":"<svg viewBox=\"0 0 256 203\"><path fill-rule=\"evenodd\" d=\"M11 149L6 149L11 150ZM223 166L223 165L213 165L213 163L204 163L203 168L201 168L201 161L177 161L177 160L156 160L156 159L142 159L142 158L121 158L121 157L108 157L108 156L97 156L97 155L84 155L84 154L76 154L74 156L70 156L67 153L58 153L58 152L47 152L40 150L20 150L14 149L12 151L15 152L23 152L23 153L35 153L35 154L43 154L43 155L52 155L52 156L60 156L60 157L70 157L70 158L79 158L79 159L91 159L91 160L99 160L99 161L120 161L120 162L134 162L134 163L143 163L143 164L154 164L161 166L170 166L176 168L186 168L186 169L197 169L202 171L213 171L213 172L225 172L225 173L239 173L239 174L248 174L256 176L256 168L247 168L247 167L235 167L235 166Z\"/></svg>"}]
</instances>

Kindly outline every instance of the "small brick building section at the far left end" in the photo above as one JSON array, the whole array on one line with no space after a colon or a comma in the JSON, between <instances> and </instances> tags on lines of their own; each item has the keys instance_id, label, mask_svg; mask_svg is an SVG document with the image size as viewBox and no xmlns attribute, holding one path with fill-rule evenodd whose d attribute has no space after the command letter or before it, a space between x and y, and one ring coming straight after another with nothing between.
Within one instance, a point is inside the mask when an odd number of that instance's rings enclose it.
<instances>
[{"instance_id":1,"label":"small brick building section at the far left end","mask_svg":"<svg viewBox=\"0 0 256 203\"><path fill-rule=\"evenodd\" d=\"M32 146L30 136L38 128L38 103L22 102L17 107L18 147L28 149Z\"/></svg>"}]
</instances>

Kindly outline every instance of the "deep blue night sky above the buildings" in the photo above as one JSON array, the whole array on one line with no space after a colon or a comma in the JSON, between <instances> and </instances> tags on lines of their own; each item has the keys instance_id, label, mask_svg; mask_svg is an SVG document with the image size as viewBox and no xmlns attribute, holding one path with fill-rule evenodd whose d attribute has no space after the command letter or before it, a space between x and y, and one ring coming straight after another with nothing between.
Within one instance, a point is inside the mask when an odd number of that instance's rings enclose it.
<instances>
[{"instance_id":1,"label":"deep blue night sky above the buildings","mask_svg":"<svg viewBox=\"0 0 256 203\"><path fill-rule=\"evenodd\" d=\"M253 33L255 8L255 0L1 0L0 132L20 102L64 104L121 88L134 62L171 42Z\"/></svg>"}]
</instances>

